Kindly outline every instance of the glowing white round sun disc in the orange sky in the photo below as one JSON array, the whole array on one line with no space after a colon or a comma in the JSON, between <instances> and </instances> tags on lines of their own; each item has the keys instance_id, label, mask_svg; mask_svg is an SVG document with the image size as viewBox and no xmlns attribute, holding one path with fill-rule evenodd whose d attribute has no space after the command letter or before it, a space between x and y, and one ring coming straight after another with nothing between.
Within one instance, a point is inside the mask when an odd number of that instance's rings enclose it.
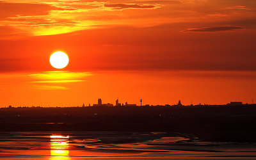
<instances>
[{"instance_id":1,"label":"glowing white round sun disc in the orange sky","mask_svg":"<svg viewBox=\"0 0 256 160\"><path fill-rule=\"evenodd\" d=\"M65 68L68 65L68 56L65 52L54 52L50 57L50 63L54 68Z\"/></svg>"}]
</instances>

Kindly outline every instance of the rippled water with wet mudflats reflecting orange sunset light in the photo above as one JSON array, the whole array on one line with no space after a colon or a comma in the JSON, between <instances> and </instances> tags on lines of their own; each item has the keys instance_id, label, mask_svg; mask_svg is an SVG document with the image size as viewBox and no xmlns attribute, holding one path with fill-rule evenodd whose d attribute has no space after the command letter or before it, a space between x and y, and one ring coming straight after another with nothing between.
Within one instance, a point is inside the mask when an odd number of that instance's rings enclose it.
<instances>
[{"instance_id":1,"label":"rippled water with wet mudflats reflecting orange sunset light","mask_svg":"<svg viewBox=\"0 0 256 160\"><path fill-rule=\"evenodd\" d=\"M0 159L255 159L255 143L164 132L1 132Z\"/></svg>"}]
</instances>

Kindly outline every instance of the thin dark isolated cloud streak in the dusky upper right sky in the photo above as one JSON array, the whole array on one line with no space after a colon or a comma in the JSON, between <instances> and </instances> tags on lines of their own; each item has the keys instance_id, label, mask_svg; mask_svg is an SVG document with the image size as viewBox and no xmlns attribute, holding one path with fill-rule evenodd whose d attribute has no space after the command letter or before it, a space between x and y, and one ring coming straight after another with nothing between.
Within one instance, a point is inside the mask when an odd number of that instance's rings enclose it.
<instances>
[{"instance_id":1,"label":"thin dark isolated cloud streak in the dusky upper right sky","mask_svg":"<svg viewBox=\"0 0 256 160\"><path fill-rule=\"evenodd\" d=\"M189 28L184 29L184 32L216 32L216 31L234 31L244 29L239 26L220 26L220 27L210 27L210 28Z\"/></svg>"}]
</instances>

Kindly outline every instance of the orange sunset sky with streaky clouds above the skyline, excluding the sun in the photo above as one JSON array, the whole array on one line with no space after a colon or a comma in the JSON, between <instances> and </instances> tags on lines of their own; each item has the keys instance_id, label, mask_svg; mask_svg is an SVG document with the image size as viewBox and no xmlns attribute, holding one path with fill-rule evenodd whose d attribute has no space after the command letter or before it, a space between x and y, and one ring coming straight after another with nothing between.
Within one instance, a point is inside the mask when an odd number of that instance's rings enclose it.
<instances>
[{"instance_id":1,"label":"orange sunset sky with streaky clouds above the skyline, excluding the sun","mask_svg":"<svg viewBox=\"0 0 256 160\"><path fill-rule=\"evenodd\" d=\"M0 1L0 107L251 103L255 33L254 0Z\"/></svg>"}]
</instances>

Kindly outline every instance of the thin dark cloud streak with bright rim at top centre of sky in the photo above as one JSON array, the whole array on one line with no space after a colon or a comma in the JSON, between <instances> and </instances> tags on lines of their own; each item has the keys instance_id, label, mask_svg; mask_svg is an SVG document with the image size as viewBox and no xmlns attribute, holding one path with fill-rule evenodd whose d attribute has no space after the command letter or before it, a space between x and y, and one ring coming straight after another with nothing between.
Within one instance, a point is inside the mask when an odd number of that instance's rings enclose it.
<instances>
[{"instance_id":1,"label":"thin dark cloud streak with bright rim at top centre of sky","mask_svg":"<svg viewBox=\"0 0 256 160\"><path fill-rule=\"evenodd\" d=\"M105 7L113 8L113 10L124 10L124 9L154 9L159 8L159 5L149 4L149 5L139 5L139 4L104 4Z\"/></svg>"}]
</instances>

